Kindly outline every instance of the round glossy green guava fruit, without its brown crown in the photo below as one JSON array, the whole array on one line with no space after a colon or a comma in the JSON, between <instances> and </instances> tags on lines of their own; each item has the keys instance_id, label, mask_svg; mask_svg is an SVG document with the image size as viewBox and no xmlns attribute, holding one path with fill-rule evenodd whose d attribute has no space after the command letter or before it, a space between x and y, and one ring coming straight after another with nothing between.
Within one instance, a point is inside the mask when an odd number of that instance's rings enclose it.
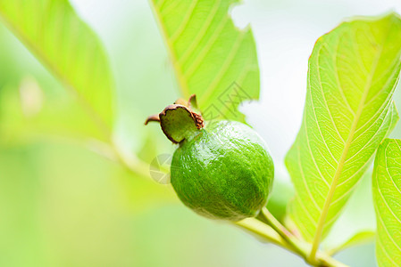
<instances>
[{"instance_id":1,"label":"round glossy green guava fruit, without its brown crown","mask_svg":"<svg viewBox=\"0 0 401 267\"><path fill-rule=\"evenodd\" d=\"M239 221L259 214L272 190L274 166L262 138L239 122L219 121L180 143L171 184L197 214Z\"/></svg>"}]
</instances>

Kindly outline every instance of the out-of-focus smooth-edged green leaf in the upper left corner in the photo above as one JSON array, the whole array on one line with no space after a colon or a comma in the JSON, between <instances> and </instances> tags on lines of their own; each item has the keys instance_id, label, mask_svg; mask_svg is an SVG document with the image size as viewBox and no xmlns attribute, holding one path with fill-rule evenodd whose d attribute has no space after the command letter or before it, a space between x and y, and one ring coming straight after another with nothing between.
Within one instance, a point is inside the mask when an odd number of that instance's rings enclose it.
<instances>
[{"instance_id":1,"label":"out-of-focus smooth-edged green leaf in the upper left corner","mask_svg":"<svg viewBox=\"0 0 401 267\"><path fill-rule=\"evenodd\" d=\"M103 46L67 0L0 0L0 17L54 76L73 89L105 135L113 81Z\"/></svg>"}]
</instances>

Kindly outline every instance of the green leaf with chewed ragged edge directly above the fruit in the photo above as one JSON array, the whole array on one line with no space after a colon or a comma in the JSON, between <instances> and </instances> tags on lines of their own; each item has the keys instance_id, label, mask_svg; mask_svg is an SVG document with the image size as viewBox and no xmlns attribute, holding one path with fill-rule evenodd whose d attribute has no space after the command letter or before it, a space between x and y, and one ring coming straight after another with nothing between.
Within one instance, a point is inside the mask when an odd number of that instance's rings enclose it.
<instances>
[{"instance_id":1,"label":"green leaf with chewed ragged edge directly above the fruit","mask_svg":"<svg viewBox=\"0 0 401 267\"><path fill-rule=\"evenodd\" d=\"M152 1L181 93L196 93L206 120L244 121L238 105L259 97L254 36L236 28L228 13L238 2Z\"/></svg>"}]
</instances>

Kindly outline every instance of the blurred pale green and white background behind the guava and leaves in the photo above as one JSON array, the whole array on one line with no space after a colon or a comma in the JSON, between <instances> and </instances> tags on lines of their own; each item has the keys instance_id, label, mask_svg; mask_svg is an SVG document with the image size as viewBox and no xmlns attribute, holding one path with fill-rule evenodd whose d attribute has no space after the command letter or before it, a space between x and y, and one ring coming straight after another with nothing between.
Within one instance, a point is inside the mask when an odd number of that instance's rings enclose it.
<instances>
[{"instance_id":1,"label":"blurred pale green and white background behind the guava and leaves","mask_svg":"<svg viewBox=\"0 0 401 267\"><path fill-rule=\"evenodd\" d=\"M171 155L174 147L159 127L143 126L146 116L179 97L149 3L71 4L96 30L112 64L115 139L148 163ZM401 12L401 2L248 0L231 9L238 27L250 23L255 35L261 100L241 110L272 150L277 175L270 206L276 214L292 194L283 158L301 122L315 40L347 17L390 10ZM399 90L395 97L401 107ZM74 105L0 24L0 266L306 266L280 247L194 214L168 185L140 179L99 155L98 143L81 138L82 129L92 129ZM401 136L401 125L393 136ZM325 246L374 229L370 187L367 174ZM372 243L337 258L376 266Z\"/></svg>"}]
</instances>

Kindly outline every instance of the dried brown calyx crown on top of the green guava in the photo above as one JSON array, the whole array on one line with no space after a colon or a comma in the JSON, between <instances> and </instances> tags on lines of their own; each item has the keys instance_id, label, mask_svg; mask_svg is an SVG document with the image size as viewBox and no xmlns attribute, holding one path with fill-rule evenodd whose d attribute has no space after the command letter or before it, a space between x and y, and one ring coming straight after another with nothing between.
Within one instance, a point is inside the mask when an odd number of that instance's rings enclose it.
<instances>
[{"instance_id":1,"label":"dried brown calyx crown on top of the green guava","mask_svg":"<svg viewBox=\"0 0 401 267\"><path fill-rule=\"evenodd\" d=\"M163 109L160 114L147 117L145 125L151 121L159 122L163 133L171 142L183 142L205 126L204 118L192 107L196 108L195 94L191 95L188 101L179 99Z\"/></svg>"}]
</instances>

